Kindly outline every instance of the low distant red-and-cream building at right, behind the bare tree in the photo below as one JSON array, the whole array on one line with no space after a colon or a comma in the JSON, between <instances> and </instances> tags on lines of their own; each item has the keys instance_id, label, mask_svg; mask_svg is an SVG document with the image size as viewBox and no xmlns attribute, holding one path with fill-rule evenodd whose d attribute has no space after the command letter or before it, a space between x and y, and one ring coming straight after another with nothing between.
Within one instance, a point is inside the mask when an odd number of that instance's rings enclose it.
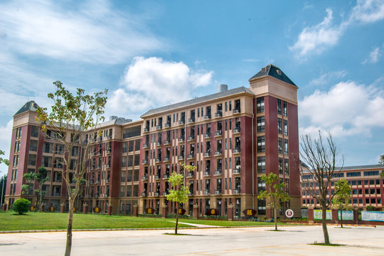
<instances>
[{"instance_id":1,"label":"low distant red-and-cream building at right, behind the bare tree","mask_svg":"<svg viewBox=\"0 0 384 256\"><path fill-rule=\"evenodd\" d=\"M384 165L368 166L347 166L336 169L335 178L329 184L327 195L331 198L335 193L335 182L341 178L346 179L351 186L351 206L367 210L367 206L372 206L375 210L384 211L384 191L383 178L380 173L384 172ZM319 207L319 202L311 196L305 188L314 188L316 191L318 184L313 182L311 174L302 173L302 206Z\"/></svg>"}]
</instances>

